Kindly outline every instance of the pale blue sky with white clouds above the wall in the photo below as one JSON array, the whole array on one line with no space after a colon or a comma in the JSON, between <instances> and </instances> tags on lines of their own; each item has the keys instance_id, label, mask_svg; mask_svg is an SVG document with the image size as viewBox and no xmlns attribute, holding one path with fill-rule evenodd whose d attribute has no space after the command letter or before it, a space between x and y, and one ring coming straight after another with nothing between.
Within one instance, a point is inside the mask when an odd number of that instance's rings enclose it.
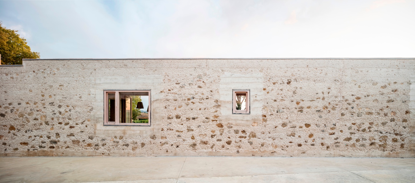
<instances>
[{"instance_id":1,"label":"pale blue sky with white clouds above the wall","mask_svg":"<svg viewBox=\"0 0 415 183\"><path fill-rule=\"evenodd\" d=\"M415 0L0 1L41 58L414 58Z\"/></svg>"}]
</instances>

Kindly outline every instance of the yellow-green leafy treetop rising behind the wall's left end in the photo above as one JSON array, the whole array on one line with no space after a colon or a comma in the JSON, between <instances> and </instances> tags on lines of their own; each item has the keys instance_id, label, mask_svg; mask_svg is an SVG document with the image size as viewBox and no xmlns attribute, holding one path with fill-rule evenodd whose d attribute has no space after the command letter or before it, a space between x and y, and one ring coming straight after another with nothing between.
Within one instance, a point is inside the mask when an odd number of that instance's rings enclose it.
<instances>
[{"instance_id":1,"label":"yellow-green leafy treetop rising behind the wall's left end","mask_svg":"<svg viewBox=\"0 0 415 183\"><path fill-rule=\"evenodd\" d=\"M40 58L38 52L30 51L26 39L16 30L7 29L0 22L0 55L2 65L20 65L23 58Z\"/></svg>"}]
</instances>

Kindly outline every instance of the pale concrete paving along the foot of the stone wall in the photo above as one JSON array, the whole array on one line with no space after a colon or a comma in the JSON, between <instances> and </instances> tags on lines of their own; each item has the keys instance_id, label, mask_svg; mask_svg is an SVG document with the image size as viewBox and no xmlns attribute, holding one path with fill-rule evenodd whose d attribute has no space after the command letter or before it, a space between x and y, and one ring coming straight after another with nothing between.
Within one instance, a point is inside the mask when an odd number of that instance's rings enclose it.
<instances>
[{"instance_id":1,"label":"pale concrete paving along the foot of the stone wall","mask_svg":"<svg viewBox=\"0 0 415 183\"><path fill-rule=\"evenodd\" d=\"M415 182L414 158L0 157L0 182Z\"/></svg>"}]
</instances>

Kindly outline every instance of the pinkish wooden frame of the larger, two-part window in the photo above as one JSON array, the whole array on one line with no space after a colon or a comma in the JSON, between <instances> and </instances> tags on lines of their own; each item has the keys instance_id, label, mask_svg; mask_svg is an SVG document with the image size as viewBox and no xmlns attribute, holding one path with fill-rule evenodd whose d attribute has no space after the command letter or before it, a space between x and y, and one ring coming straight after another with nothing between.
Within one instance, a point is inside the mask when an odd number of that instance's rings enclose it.
<instances>
[{"instance_id":1,"label":"pinkish wooden frame of the larger, two-part window","mask_svg":"<svg viewBox=\"0 0 415 183\"><path fill-rule=\"evenodd\" d=\"M148 92L149 93L149 123L120 123L120 92ZM108 94L115 94L115 122L108 121ZM137 104L136 104L137 105ZM134 107L134 106L132 106ZM151 126L151 90L104 90L104 126Z\"/></svg>"}]
</instances>

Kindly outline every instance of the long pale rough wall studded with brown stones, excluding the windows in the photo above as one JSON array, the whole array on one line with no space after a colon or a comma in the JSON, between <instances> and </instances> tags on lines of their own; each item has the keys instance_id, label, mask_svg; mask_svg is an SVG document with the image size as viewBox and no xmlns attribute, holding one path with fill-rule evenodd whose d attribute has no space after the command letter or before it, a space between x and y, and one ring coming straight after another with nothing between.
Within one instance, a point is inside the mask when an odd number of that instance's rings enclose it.
<instances>
[{"instance_id":1,"label":"long pale rough wall studded with brown stones, excluding the windows","mask_svg":"<svg viewBox=\"0 0 415 183\"><path fill-rule=\"evenodd\" d=\"M0 82L3 157L415 157L415 59L27 59ZM151 89L151 126L104 126L105 89Z\"/></svg>"}]
</instances>

